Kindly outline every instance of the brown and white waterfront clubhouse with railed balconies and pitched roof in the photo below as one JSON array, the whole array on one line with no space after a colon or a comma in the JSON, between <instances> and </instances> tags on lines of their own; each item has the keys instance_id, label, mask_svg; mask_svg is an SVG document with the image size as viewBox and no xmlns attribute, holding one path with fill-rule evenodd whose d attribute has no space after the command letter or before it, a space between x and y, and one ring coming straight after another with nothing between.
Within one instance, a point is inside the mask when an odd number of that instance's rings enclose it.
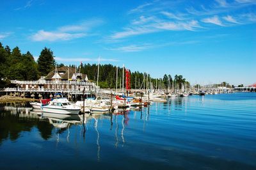
<instances>
[{"instance_id":1,"label":"brown and white waterfront clubhouse with railed balconies and pitched roof","mask_svg":"<svg viewBox=\"0 0 256 170\"><path fill-rule=\"evenodd\" d=\"M76 68L62 66L55 68L46 77L38 81L11 81L17 88L6 88L5 91L30 92L30 93L68 93L70 95L81 95L95 93L98 86L88 81L86 74L78 73Z\"/></svg>"}]
</instances>

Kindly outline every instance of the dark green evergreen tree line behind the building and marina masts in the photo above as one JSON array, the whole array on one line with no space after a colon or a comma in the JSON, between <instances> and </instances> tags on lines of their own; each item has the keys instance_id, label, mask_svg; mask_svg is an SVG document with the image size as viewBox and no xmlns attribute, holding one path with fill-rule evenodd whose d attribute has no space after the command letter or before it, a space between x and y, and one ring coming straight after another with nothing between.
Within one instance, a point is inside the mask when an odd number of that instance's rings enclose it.
<instances>
[{"instance_id":1,"label":"dark green evergreen tree line behind the building and marina masts","mask_svg":"<svg viewBox=\"0 0 256 170\"><path fill-rule=\"evenodd\" d=\"M26 54L21 54L19 47L10 49L8 45L3 47L0 42L0 84L10 86L10 80L19 81L36 81L40 76L46 76L51 72L55 66L64 66L56 64L54 54L51 49L45 47L42 49L40 56L35 61L33 55L28 51ZM69 65L75 67L75 65ZM122 68L118 67L118 78L116 82L116 66L111 64L100 65L99 67L99 86L101 88L118 88L122 86ZM77 66L77 71L86 73L88 79L97 82L97 69L96 64L81 64ZM153 78L150 74L141 73L138 71L130 72L131 74L131 88L182 88L182 86L189 87L189 82L182 77L182 75L175 75L172 77L170 74L164 74L163 78ZM125 75L125 74L124 74ZM125 84L125 78L124 78Z\"/></svg>"}]
</instances>

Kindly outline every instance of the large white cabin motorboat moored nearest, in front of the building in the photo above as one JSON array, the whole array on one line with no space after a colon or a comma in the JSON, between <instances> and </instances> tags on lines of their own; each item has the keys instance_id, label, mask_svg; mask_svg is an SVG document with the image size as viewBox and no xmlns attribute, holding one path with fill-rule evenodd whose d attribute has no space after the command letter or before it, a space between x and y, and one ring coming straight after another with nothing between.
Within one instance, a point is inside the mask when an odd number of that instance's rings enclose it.
<instances>
[{"instance_id":1,"label":"large white cabin motorboat moored nearest, in front of the building","mask_svg":"<svg viewBox=\"0 0 256 170\"><path fill-rule=\"evenodd\" d=\"M44 112L56 114L79 114L81 107L71 104L67 98L56 98L49 105L43 106Z\"/></svg>"}]
</instances>

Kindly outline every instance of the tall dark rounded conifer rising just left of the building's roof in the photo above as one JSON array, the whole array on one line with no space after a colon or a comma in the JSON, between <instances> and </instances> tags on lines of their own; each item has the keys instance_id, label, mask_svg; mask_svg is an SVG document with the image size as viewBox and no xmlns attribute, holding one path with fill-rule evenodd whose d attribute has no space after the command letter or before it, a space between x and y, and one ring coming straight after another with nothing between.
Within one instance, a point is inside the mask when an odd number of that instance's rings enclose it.
<instances>
[{"instance_id":1,"label":"tall dark rounded conifer rising just left of the building's roof","mask_svg":"<svg viewBox=\"0 0 256 170\"><path fill-rule=\"evenodd\" d=\"M55 60L51 49L46 47L42 50L38 60L38 71L40 75L45 76L54 69Z\"/></svg>"}]
</instances>

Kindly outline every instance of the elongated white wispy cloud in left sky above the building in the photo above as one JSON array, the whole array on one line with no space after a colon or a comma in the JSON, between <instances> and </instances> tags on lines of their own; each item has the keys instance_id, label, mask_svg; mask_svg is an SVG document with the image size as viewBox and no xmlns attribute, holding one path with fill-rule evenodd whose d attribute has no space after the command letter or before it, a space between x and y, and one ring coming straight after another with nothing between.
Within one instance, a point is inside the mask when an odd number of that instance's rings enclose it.
<instances>
[{"instance_id":1,"label":"elongated white wispy cloud in left sky above the building","mask_svg":"<svg viewBox=\"0 0 256 170\"><path fill-rule=\"evenodd\" d=\"M30 38L35 42L49 41L55 42L60 40L72 40L75 38L82 38L88 36L88 31L102 23L102 20L92 20L87 22L82 22L76 25L67 25L58 27L54 31L45 31L41 29L34 33Z\"/></svg>"}]
</instances>

